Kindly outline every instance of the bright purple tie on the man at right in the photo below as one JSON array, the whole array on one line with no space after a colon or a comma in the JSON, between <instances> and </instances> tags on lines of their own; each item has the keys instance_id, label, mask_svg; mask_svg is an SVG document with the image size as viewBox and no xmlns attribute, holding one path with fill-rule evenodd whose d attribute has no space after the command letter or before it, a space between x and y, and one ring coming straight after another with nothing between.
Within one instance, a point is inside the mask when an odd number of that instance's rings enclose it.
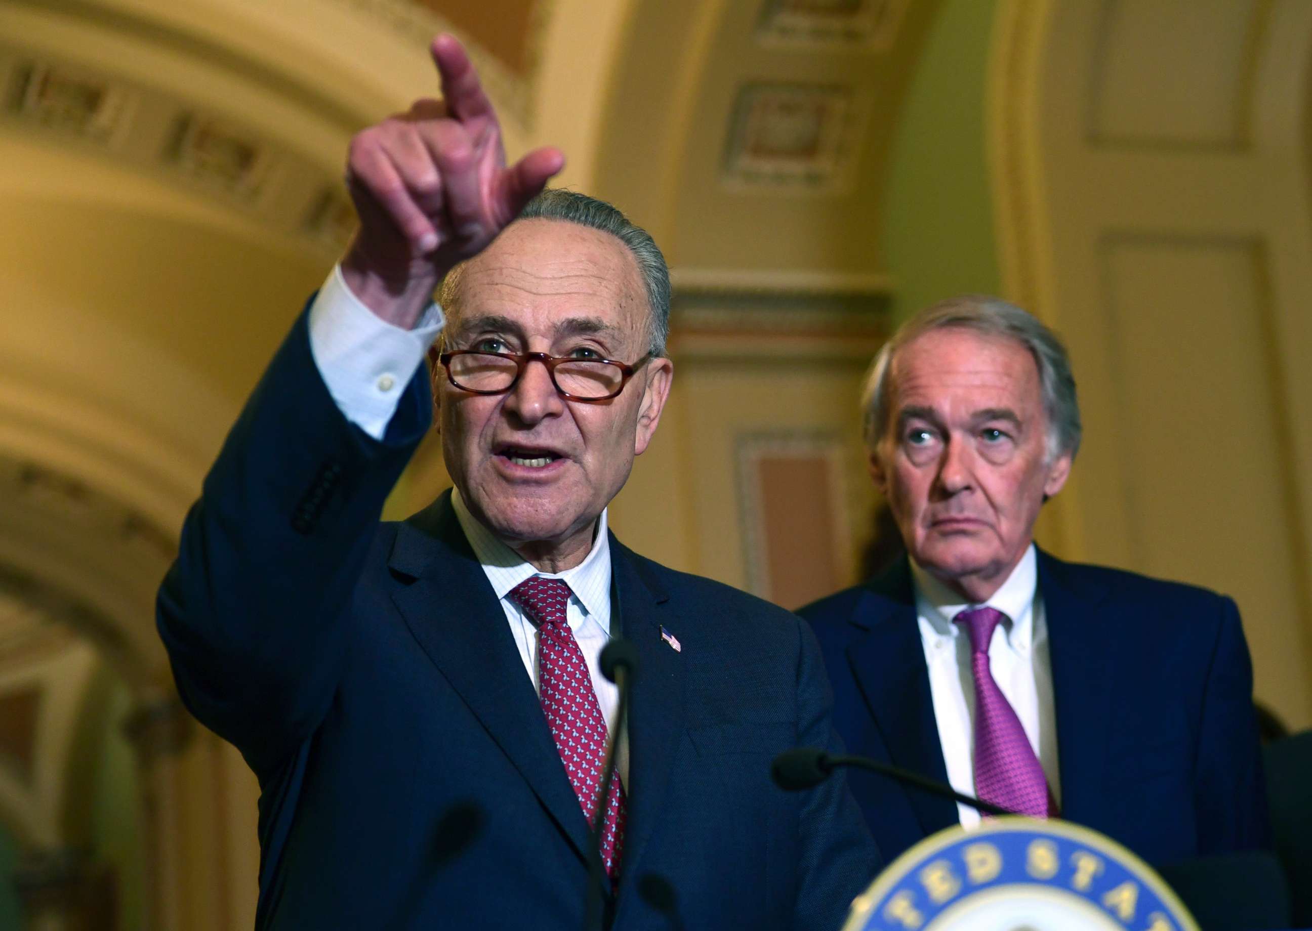
<instances>
[{"instance_id":1,"label":"bright purple tie on the man at right","mask_svg":"<svg viewBox=\"0 0 1312 931\"><path fill-rule=\"evenodd\" d=\"M1005 618L991 607L962 611L953 622L971 635L971 673L975 677L975 792L984 801L1047 818L1056 814L1043 766L1025 736L988 664L993 631Z\"/></svg>"}]
</instances>

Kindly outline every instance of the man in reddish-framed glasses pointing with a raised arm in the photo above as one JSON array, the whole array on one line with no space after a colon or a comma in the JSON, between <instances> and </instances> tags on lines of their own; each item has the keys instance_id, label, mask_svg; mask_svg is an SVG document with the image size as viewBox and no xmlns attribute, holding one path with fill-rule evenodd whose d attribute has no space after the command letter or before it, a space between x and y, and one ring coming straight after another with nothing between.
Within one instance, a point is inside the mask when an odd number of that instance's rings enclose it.
<instances>
[{"instance_id":1,"label":"man in reddish-framed glasses pointing with a raised arm","mask_svg":"<svg viewBox=\"0 0 1312 931\"><path fill-rule=\"evenodd\" d=\"M581 928L598 825L614 927L836 928L876 868L861 814L769 776L834 740L811 632L606 526L670 387L660 250L539 194L560 152L506 168L463 50L433 58L443 101L354 139L359 232L160 590L184 700L260 779L257 926ZM434 409L455 490L379 523Z\"/></svg>"}]
</instances>

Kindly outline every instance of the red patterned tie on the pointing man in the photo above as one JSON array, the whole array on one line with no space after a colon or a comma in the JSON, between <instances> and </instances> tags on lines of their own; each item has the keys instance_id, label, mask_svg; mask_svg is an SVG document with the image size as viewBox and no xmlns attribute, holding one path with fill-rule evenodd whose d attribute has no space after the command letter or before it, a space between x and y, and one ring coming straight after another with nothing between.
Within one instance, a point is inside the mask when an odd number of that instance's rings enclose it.
<instances>
[{"instance_id":1,"label":"red patterned tie on the pointing man","mask_svg":"<svg viewBox=\"0 0 1312 931\"><path fill-rule=\"evenodd\" d=\"M538 698L551 725L560 761L589 827L597 814L601 771L606 763L606 719L592 687L588 662L565 623L569 585L559 578L533 578L510 590L510 599L538 625ZM601 834L601 859L611 880L619 875L625 848L625 787L615 774Z\"/></svg>"}]
</instances>

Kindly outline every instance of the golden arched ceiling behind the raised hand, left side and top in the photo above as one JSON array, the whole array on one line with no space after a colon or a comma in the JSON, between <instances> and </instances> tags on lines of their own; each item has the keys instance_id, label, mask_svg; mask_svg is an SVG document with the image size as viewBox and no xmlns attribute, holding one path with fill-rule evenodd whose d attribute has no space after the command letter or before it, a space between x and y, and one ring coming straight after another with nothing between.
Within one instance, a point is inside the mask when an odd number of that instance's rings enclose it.
<instances>
[{"instance_id":1,"label":"golden arched ceiling behind the raised hand, left side and top","mask_svg":"<svg viewBox=\"0 0 1312 931\"><path fill-rule=\"evenodd\" d=\"M0 5L0 802L64 746L88 649L167 687L152 593L182 515L349 235L350 135L437 93L432 34L466 39L510 153L564 148L562 182L648 224L685 287L869 295L935 5Z\"/></svg>"}]
</instances>

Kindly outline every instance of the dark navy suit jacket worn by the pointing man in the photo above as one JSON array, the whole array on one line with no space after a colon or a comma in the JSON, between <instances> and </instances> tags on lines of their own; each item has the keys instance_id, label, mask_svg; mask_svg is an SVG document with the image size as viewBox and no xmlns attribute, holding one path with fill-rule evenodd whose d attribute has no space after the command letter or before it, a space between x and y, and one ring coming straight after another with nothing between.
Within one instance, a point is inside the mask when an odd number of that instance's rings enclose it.
<instances>
[{"instance_id":1,"label":"dark navy suit jacket worn by the pointing man","mask_svg":"<svg viewBox=\"0 0 1312 931\"><path fill-rule=\"evenodd\" d=\"M421 372L382 442L350 425L302 316L160 590L182 699L260 780L258 928L584 923L588 826L449 496L378 521L429 410ZM614 927L837 928L878 869L861 814L769 775L836 746L810 628L610 545L639 653Z\"/></svg>"}]
</instances>

